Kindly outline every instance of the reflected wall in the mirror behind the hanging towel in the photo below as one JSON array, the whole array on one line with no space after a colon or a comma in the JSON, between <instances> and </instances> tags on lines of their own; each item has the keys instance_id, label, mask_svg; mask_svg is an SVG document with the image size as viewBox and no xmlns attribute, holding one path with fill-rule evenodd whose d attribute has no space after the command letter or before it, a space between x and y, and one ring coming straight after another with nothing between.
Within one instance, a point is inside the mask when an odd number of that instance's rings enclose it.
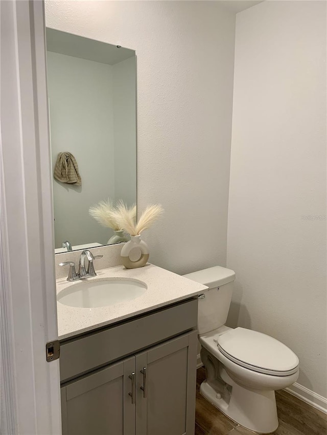
<instances>
[{"instance_id":1,"label":"reflected wall in the mirror behind the hanging towel","mask_svg":"<svg viewBox=\"0 0 327 435\"><path fill-rule=\"evenodd\" d=\"M110 229L88 214L114 197L112 66L47 52L53 167L59 152L75 156L82 186L53 180L55 247L106 243Z\"/></svg>"}]
</instances>

